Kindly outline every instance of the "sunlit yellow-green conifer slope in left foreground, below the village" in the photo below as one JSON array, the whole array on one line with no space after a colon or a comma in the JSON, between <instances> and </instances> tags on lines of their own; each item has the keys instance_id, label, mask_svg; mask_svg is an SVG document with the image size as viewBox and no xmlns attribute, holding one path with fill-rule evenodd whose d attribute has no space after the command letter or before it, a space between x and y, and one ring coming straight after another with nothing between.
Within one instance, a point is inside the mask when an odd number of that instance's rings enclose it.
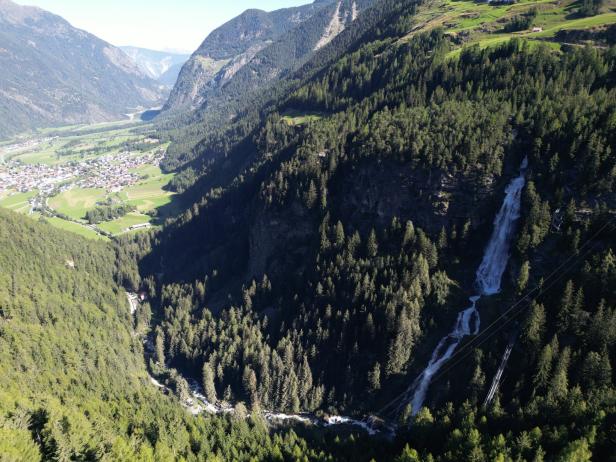
<instances>
[{"instance_id":1,"label":"sunlit yellow-green conifer slope in left foreground, below the village","mask_svg":"<svg viewBox=\"0 0 616 462\"><path fill-rule=\"evenodd\" d=\"M333 460L258 418L193 416L165 396L116 269L110 245L0 210L0 460Z\"/></svg>"}]
</instances>

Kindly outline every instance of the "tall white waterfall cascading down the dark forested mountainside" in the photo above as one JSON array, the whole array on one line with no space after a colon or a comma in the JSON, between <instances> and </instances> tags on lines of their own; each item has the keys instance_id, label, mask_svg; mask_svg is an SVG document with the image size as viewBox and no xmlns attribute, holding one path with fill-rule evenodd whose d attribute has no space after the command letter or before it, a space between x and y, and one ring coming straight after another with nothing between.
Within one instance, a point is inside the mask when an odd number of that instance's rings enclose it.
<instances>
[{"instance_id":1,"label":"tall white waterfall cascading down the dark forested mountainside","mask_svg":"<svg viewBox=\"0 0 616 462\"><path fill-rule=\"evenodd\" d=\"M428 367L414 382L414 394L411 401L413 415L417 414L423 406L432 378L453 355L462 339L479 332L479 312L475 307L477 300L484 295L494 295L500 292L501 279L509 261L514 225L520 217L522 189L525 184L524 175L527 166L528 159L524 158L520 166L520 174L509 183L505 190L503 205L494 220L494 231L475 276L475 285L479 295L470 297L471 306L458 313L453 331L441 339L432 353Z\"/></svg>"}]
</instances>

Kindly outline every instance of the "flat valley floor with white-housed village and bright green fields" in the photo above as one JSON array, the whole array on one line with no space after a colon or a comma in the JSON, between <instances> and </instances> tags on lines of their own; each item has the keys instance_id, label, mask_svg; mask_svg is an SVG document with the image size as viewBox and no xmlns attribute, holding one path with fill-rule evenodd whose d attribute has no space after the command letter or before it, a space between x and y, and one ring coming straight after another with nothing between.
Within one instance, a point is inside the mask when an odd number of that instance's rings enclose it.
<instances>
[{"instance_id":1,"label":"flat valley floor with white-housed village and bright green fields","mask_svg":"<svg viewBox=\"0 0 616 462\"><path fill-rule=\"evenodd\" d=\"M173 202L167 145L138 124L59 129L0 144L0 207L90 238L148 228ZM120 210L93 223L97 208Z\"/></svg>"}]
</instances>

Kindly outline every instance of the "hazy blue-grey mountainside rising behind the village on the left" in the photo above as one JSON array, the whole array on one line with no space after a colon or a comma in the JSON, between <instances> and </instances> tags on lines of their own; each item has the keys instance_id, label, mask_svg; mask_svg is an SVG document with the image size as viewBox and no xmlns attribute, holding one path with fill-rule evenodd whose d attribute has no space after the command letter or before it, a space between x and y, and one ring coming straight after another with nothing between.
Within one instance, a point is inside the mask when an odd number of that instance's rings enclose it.
<instances>
[{"instance_id":1,"label":"hazy blue-grey mountainside rising behind the village on the left","mask_svg":"<svg viewBox=\"0 0 616 462\"><path fill-rule=\"evenodd\" d=\"M120 49L9 0L0 0L0 69L0 136L116 119L162 95Z\"/></svg>"}]
</instances>

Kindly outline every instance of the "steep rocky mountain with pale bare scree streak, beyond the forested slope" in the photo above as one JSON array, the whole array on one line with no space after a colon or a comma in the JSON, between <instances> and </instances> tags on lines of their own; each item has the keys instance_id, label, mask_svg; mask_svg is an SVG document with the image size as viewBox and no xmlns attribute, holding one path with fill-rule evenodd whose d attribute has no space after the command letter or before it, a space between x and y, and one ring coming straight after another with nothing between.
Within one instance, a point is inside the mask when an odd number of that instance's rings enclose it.
<instances>
[{"instance_id":1,"label":"steep rocky mountain with pale bare scree streak, beyond the forested slope","mask_svg":"<svg viewBox=\"0 0 616 462\"><path fill-rule=\"evenodd\" d=\"M307 59L371 0L317 0L273 12L247 10L213 31L182 68L165 109L201 106L230 82L254 89Z\"/></svg>"}]
</instances>

